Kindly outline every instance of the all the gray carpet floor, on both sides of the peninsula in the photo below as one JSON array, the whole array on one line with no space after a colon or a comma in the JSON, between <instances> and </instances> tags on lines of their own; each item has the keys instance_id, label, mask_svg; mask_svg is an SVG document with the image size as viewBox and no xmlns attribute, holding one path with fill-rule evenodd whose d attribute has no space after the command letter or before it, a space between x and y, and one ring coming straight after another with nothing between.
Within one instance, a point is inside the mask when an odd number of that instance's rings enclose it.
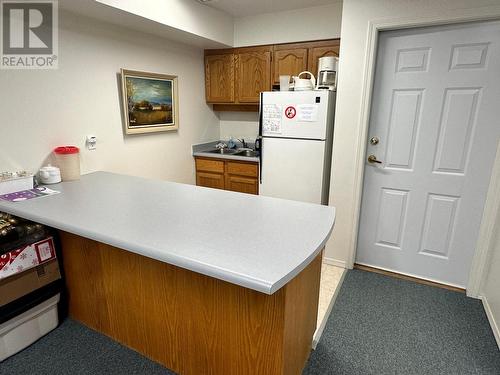
<instances>
[{"instance_id":1,"label":"all the gray carpet floor, on both sides of the peninsula","mask_svg":"<svg viewBox=\"0 0 500 375\"><path fill-rule=\"evenodd\" d=\"M70 319L0 363L1 375L173 372ZM349 271L304 375L500 374L500 351L478 300Z\"/></svg>"}]
</instances>

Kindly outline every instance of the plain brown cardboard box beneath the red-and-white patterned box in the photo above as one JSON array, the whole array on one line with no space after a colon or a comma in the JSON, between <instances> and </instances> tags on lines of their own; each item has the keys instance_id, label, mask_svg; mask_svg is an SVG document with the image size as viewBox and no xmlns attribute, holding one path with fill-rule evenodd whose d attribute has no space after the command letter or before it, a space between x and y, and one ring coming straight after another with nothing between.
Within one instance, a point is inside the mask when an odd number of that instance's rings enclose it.
<instances>
[{"instance_id":1,"label":"plain brown cardboard box beneath the red-and-white patterned box","mask_svg":"<svg viewBox=\"0 0 500 375\"><path fill-rule=\"evenodd\" d=\"M61 278L57 259L0 280L0 306Z\"/></svg>"}]
</instances>

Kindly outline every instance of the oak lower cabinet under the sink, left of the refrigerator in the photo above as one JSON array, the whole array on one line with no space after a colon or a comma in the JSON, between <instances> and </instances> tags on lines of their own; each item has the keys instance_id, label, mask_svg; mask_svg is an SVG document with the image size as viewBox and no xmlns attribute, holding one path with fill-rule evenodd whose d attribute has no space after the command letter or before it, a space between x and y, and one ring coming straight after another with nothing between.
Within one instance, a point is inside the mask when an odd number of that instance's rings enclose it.
<instances>
[{"instance_id":1,"label":"oak lower cabinet under the sink, left of the refrigerator","mask_svg":"<svg viewBox=\"0 0 500 375\"><path fill-rule=\"evenodd\" d=\"M196 185L259 194L259 165L254 162L195 157Z\"/></svg>"}]
</instances>

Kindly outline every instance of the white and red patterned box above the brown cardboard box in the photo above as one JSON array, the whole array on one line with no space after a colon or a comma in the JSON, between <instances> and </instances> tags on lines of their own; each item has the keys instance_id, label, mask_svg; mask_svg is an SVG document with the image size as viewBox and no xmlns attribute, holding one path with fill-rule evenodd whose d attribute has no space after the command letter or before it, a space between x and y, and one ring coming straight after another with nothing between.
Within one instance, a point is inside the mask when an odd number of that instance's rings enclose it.
<instances>
[{"instance_id":1,"label":"white and red patterned box above the brown cardboard box","mask_svg":"<svg viewBox=\"0 0 500 375\"><path fill-rule=\"evenodd\" d=\"M56 258L52 237L0 255L0 281Z\"/></svg>"}]
</instances>

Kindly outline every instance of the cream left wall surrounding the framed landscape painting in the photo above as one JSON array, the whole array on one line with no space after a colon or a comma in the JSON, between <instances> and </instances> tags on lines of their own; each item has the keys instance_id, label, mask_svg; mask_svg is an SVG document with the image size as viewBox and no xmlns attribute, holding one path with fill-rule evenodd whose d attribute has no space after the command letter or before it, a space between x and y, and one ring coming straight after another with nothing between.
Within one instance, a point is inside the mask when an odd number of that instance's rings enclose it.
<instances>
[{"instance_id":1,"label":"cream left wall surrounding the framed landscape painting","mask_svg":"<svg viewBox=\"0 0 500 375\"><path fill-rule=\"evenodd\" d=\"M203 50L60 12L59 69L0 71L0 171L36 171L61 144L82 147L82 171L194 183L191 145L219 137L205 103ZM124 136L120 68L179 76L178 132ZM96 135L97 150L84 149Z\"/></svg>"}]
</instances>

